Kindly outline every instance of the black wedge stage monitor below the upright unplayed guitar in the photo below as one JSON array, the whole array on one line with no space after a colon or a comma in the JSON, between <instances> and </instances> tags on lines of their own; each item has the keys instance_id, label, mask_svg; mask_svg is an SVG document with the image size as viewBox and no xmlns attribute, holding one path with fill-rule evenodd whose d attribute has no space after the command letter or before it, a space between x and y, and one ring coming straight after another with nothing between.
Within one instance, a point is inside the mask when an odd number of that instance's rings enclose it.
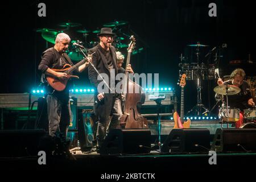
<instances>
[{"instance_id":1,"label":"black wedge stage monitor below the upright unplayed guitar","mask_svg":"<svg viewBox=\"0 0 256 182\"><path fill-rule=\"evenodd\" d=\"M172 129L163 143L162 152L208 152L208 129Z\"/></svg>"}]
</instances>

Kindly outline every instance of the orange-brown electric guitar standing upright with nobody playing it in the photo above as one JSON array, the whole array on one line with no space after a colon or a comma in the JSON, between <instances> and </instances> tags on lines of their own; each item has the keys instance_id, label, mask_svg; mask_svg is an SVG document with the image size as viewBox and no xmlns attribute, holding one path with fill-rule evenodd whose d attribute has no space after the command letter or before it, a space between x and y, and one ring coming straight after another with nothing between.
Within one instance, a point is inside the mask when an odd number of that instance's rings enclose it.
<instances>
[{"instance_id":1,"label":"orange-brown electric guitar standing upright with nobody playing it","mask_svg":"<svg viewBox=\"0 0 256 182\"><path fill-rule=\"evenodd\" d=\"M177 112L174 113L174 129L188 129L191 125L191 121L188 118L188 121L184 122L184 86L186 85L185 78L187 76L183 74L180 78L179 85L181 86L181 101L180 101L180 117Z\"/></svg>"}]
</instances>

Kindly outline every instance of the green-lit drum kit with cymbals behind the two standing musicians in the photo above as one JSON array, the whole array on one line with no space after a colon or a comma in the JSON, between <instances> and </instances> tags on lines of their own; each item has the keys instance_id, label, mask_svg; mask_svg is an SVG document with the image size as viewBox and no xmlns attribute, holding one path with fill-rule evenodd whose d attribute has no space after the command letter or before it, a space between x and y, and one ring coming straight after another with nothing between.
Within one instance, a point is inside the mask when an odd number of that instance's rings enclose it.
<instances>
[{"instance_id":1,"label":"green-lit drum kit with cymbals behind the two standing musicians","mask_svg":"<svg viewBox=\"0 0 256 182\"><path fill-rule=\"evenodd\" d=\"M126 52L128 47L127 41L130 38L129 28L125 29L128 25L127 21L120 20L114 21L110 23L103 24L102 27L111 27L113 32L116 34L114 36L114 40L112 45L117 49L117 51ZM36 32L39 32L44 40L46 40L46 47L48 48L48 43L55 44L55 39L57 34L61 32L68 32L67 34L71 36L71 45L67 50L68 56L72 61L80 61L84 58L84 55L80 52L80 49L76 46L73 46L73 43L80 44L85 47L85 49L92 48L98 44L98 36L100 33L100 28L96 28L95 30L88 30L87 28L79 28L82 27L80 23L72 23L72 22L64 22L59 23L57 26L60 27L60 30L55 30L51 28L39 28ZM128 27L128 26L127 26ZM79 28L79 30L77 30ZM73 37L73 38L72 38ZM74 38L75 37L75 38ZM143 47L135 48L133 54L142 52ZM86 50L87 51L87 50Z\"/></svg>"}]
</instances>

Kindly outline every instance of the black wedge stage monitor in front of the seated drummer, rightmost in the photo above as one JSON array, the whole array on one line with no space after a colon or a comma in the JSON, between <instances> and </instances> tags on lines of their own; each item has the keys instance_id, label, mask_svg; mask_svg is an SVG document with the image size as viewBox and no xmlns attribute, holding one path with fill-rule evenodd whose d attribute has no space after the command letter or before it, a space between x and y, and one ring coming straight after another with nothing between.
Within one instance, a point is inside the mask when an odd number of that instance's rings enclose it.
<instances>
[{"instance_id":1,"label":"black wedge stage monitor in front of the seated drummer, rightmost","mask_svg":"<svg viewBox=\"0 0 256 182\"><path fill-rule=\"evenodd\" d=\"M212 150L217 152L256 151L256 129L217 129Z\"/></svg>"}]
</instances>

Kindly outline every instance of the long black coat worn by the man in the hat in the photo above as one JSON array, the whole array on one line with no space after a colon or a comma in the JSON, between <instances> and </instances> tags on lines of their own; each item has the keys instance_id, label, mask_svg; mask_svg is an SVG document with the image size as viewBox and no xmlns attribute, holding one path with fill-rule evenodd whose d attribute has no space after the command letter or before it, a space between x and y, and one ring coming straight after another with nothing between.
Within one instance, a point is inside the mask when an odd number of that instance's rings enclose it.
<instances>
[{"instance_id":1,"label":"long black coat worn by the man in the hat","mask_svg":"<svg viewBox=\"0 0 256 182\"><path fill-rule=\"evenodd\" d=\"M117 63L116 63L117 55L115 54L115 48L113 46L111 46L110 51L112 54L115 75L117 75L117 73L118 73ZM97 68L98 72L106 73L110 78L110 70L108 68L107 60L106 60L105 56L102 54L102 52L100 51L100 48L98 46L95 46L95 47L89 49L89 54L91 54L93 52L95 52L95 53L92 55L92 63ZM98 95L98 93L100 93L100 91L97 89L97 86L98 86L98 84L100 84L100 82L102 80L97 80L98 74L94 70L92 65L89 65L89 67L88 67L88 74L89 74L90 83L94 86L94 90L95 90L94 100L97 101L97 95ZM109 80L109 86L110 86L110 80ZM101 102L99 102L99 101L94 102L94 113L98 117L100 117L100 119L102 121L105 120L105 118L109 117L109 115L110 115L110 112L113 107L113 96L114 96L114 94L105 93L104 100L102 100Z\"/></svg>"}]
</instances>

